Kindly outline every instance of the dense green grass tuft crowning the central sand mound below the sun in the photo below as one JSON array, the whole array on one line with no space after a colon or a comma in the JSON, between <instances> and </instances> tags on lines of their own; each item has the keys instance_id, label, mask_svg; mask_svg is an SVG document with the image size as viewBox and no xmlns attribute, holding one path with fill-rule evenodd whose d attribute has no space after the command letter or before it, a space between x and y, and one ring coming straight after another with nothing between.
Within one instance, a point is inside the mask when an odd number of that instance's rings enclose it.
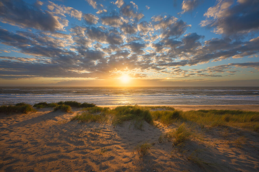
<instances>
[{"instance_id":1,"label":"dense green grass tuft crowning the central sand mound below the sun","mask_svg":"<svg viewBox=\"0 0 259 172\"><path fill-rule=\"evenodd\" d=\"M114 125L123 123L128 120L145 120L149 124L153 124L153 119L149 110L135 106L118 106L114 108L114 118L112 123Z\"/></svg>"}]
</instances>

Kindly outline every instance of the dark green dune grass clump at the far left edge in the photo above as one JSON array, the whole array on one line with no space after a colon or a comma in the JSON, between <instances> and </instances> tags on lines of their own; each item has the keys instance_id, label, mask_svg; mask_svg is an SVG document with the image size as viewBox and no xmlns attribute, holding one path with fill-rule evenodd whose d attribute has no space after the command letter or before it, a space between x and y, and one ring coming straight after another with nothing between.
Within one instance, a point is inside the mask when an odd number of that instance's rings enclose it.
<instances>
[{"instance_id":1,"label":"dark green dune grass clump at the far left edge","mask_svg":"<svg viewBox=\"0 0 259 172\"><path fill-rule=\"evenodd\" d=\"M6 114L11 114L11 113L25 113L27 114L28 112L36 112L31 105L26 104L26 103L17 103L16 105L2 105L0 106L0 112L6 113Z\"/></svg>"}]
</instances>

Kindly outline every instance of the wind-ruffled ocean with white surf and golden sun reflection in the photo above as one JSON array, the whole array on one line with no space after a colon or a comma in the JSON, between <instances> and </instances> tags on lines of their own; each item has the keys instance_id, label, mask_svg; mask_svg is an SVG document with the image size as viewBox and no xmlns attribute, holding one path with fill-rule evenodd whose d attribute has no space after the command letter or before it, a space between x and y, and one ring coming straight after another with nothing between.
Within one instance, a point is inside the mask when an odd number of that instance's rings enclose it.
<instances>
[{"instance_id":1,"label":"wind-ruffled ocean with white surf and golden sun reflection","mask_svg":"<svg viewBox=\"0 0 259 172\"><path fill-rule=\"evenodd\" d=\"M258 105L259 87L0 87L0 104Z\"/></svg>"}]
</instances>

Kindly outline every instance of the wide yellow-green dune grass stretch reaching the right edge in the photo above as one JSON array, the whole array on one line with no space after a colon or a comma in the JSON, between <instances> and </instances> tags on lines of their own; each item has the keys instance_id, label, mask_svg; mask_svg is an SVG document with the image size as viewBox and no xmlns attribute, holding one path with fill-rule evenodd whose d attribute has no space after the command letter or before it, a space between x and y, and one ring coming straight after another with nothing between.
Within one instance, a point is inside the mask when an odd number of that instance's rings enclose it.
<instances>
[{"instance_id":1,"label":"wide yellow-green dune grass stretch reaching the right edge","mask_svg":"<svg viewBox=\"0 0 259 172\"><path fill-rule=\"evenodd\" d=\"M259 112L241 110L152 111L152 119L165 125L174 122L196 123L206 127L241 127L259 132Z\"/></svg>"}]
</instances>

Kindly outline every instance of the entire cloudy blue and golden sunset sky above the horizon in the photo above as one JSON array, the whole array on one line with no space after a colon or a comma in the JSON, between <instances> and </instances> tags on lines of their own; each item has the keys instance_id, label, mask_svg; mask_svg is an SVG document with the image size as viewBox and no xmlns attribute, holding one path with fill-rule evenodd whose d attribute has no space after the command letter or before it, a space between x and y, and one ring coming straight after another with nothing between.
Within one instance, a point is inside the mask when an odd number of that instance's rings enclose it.
<instances>
[{"instance_id":1,"label":"entire cloudy blue and golden sunset sky above the horizon","mask_svg":"<svg viewBox=\"0 0 259 172\"><path fill-rule=\"evenodd\" d=\"M0 86L259 86L259 1L1 0Z\"/></svg>"}]
</instances>

